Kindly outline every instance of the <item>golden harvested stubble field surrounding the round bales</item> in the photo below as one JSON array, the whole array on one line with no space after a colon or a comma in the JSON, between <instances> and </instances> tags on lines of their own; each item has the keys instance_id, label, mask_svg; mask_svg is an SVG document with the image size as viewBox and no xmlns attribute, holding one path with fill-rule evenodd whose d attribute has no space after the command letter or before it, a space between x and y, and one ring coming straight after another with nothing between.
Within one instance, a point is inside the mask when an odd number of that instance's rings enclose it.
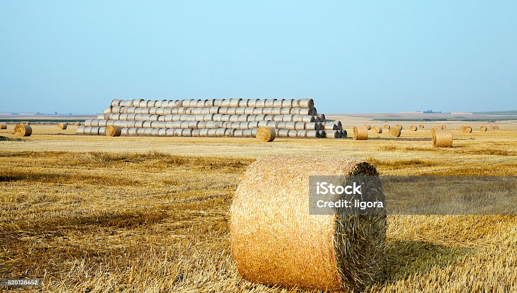
<instances>
[{"instance_id":1,"label":"golden harvested stubble field surrounding the round bales","mask_svg":"<svg viewBox=\"0 0 517 293\"><path fill-rule=\"evenodd\" d=\"M368 120L342 122L352 131ZM450 122L450 148L392 124L400 137L267 144L77 135L71 124L32 125L29 137L0 130L0 277L41 277L43 287L28 290L44 292L288 292L243 279L231 253L232 198L257 158L353 157L382 175L517 175L511 122L488 132L473 122L472 133ZM386 265L362 290L515 291L516 227L517 216L389 215Z\"/></svg>"}]
</instances>

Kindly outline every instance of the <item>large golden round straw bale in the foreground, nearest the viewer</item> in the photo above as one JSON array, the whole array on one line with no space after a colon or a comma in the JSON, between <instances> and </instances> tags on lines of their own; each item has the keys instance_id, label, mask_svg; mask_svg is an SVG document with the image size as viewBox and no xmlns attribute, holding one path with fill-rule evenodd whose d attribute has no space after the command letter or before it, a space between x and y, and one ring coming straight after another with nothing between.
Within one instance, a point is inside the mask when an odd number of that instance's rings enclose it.
<instances>
[{"instance_id":1,"label":"large golden round straw bale in the foreground, nearest the viewer","mask_svg":"<svg viewBox=\"0 0 517 293\"><path fill-rule=\"evenodd\" d=\"M376 175L351 158L272 156L250 165L230 209L230 242L251 282L361 289L382 273L385 216L309 214L310 175Z\"/></svg>"}]
</instances>

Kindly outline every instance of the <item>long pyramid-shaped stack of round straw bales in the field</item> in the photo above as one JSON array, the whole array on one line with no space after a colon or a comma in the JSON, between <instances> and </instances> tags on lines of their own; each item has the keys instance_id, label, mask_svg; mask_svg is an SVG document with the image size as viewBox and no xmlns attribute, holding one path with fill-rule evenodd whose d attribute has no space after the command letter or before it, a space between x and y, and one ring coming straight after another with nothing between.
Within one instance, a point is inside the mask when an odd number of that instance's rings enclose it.
<instances>
[{"instance_id":1,"label":"long pyramid-shaped stack of round straw bales in the field","mask_svg":"<svg viewBox=\"0 0 517 293\"><path fill-rule=\"evenodd\" d=\"M317 114L312 99L113 100L78 134L121 136L255 137L258 127L276 137L343 137L341 122Z\"/></svg>"}]
</instances>

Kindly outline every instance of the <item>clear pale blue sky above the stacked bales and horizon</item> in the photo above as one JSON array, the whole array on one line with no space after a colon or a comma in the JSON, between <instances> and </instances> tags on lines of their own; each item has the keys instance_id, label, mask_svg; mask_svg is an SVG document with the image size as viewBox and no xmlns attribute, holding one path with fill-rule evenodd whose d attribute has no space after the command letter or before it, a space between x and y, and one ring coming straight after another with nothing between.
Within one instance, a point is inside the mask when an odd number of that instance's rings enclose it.
<instances>
[{"instance_id":1,"label":"clear pale blue sky above the stacked bales and horizon","mask_svg":"<svg viewBox=\"0 0 517 293\"><path fill-rule=\"evenodd\" d=\"M516 1L0 0L0 112L230 97L517 110L516 16Z\"/></svg>"}]
</instances>

